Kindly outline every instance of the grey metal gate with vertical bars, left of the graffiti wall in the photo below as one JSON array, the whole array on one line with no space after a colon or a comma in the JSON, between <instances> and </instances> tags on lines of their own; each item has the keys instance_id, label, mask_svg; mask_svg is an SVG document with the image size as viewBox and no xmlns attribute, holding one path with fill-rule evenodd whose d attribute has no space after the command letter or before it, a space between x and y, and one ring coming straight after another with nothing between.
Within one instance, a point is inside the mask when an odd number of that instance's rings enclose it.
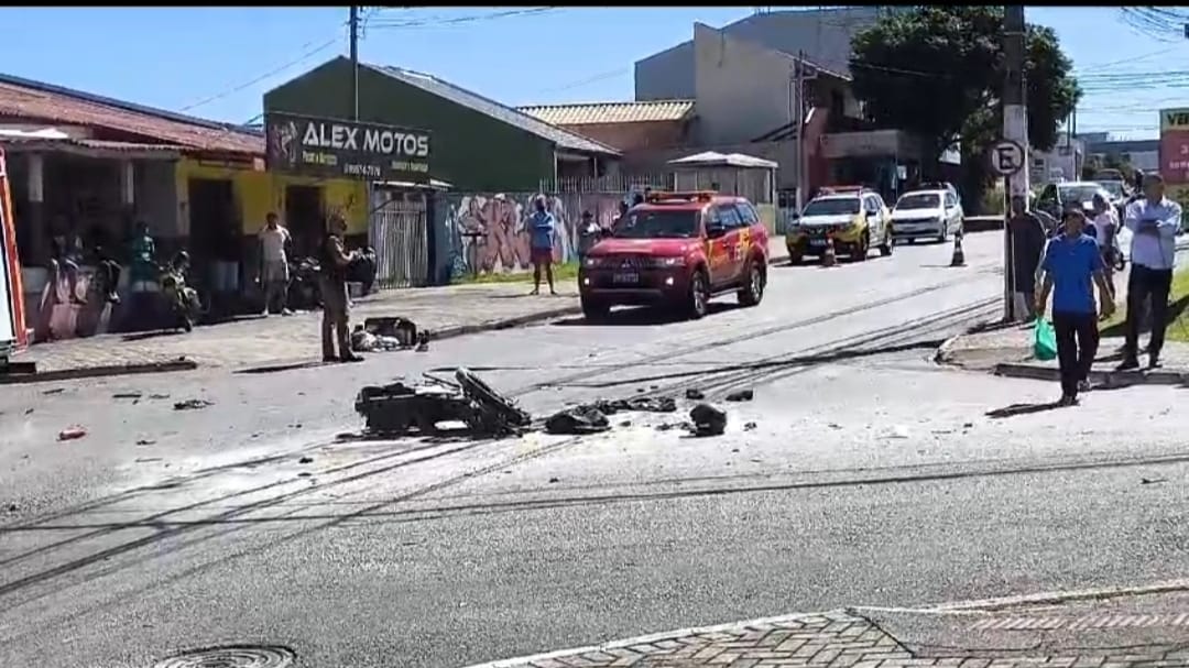
<instances>
[{"instance_id":1,"label":"grey metal gate with vertical bars, left of the graffiti wall","mask_svg":"<svg viewBox=\"0 0 1189 668\"><path fill-rule=\"evenodd\" d=\"M376 248L380 288L420 288L429 281L429 223L424 197L397 194L372 210L367 235Z\"/></svg>"}]
</instances>

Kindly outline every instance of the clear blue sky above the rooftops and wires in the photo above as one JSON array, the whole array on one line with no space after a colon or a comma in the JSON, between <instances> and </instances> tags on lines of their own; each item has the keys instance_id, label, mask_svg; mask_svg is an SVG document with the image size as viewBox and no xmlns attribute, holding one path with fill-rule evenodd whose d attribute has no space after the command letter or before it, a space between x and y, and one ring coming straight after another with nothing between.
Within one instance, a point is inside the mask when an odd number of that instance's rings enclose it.
<instances>
[{"instance_id":1,"label":"clear blue sky above the rooftops and wires","mask_svg":"<svg viewBox=\"0 0 1189 668\"><path fill-rule=\"evenodd\" d=\"M427 71L509 105L630 100L631 64L750 7L365 11L360 57ZM243 122L260 95L346 52L341 8L0 8L7 74ZM1080 73L1178 70L1189 40L1156 40L1111 7L1030 7ZM48 32L49 31L49 32ZM1119 64L1124 63L1124 64ZM1155 137L1157 109L1189 107L1189 82L1124 90L1099 80L1078 131Z\"/></svg>"}]
</instances>

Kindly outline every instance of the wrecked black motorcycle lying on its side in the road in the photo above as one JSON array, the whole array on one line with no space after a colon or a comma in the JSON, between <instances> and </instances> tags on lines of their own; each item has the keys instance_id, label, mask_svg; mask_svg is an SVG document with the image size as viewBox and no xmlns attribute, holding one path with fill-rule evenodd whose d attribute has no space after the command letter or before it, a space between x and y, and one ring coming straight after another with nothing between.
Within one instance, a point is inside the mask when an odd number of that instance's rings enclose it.
<instances>
[{"instance_id":1,"label":"wrecked black motorcycle lying on its side in the road","mask_svg":"<svg viewBox=\"0 0 1189 668\"><path fill-rule=\"evenodd\" d=\"M522 433L531 417L465 368L457 383L429 377L432 383L369 385L356 398L356 411L375 436L435 435L445 422L461 422L472 436Z\"/></svg>"}]
</instances>

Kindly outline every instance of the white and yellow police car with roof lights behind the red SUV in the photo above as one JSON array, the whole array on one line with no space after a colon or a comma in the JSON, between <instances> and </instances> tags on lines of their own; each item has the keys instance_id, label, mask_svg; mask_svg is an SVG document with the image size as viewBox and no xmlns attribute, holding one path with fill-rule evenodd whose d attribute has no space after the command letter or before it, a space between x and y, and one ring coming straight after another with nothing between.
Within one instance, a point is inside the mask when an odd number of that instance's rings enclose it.
<instances>
[{"instance_id":1,"label":"white and yellow police car with roof lights behind the red SUV","mask_svg":"<svg viewBox=\"0 0 1189 668\"><path fill-rule=\"evenodd\" d=\"M789 221L785 234L789 261L799 264L809 256L820 257L830 238L835 252L853 260L866 260L873 246L881 256L892 254L892 212L879 193L860 187L830 187L825 191Z\"/></svg>"}]
</instances>

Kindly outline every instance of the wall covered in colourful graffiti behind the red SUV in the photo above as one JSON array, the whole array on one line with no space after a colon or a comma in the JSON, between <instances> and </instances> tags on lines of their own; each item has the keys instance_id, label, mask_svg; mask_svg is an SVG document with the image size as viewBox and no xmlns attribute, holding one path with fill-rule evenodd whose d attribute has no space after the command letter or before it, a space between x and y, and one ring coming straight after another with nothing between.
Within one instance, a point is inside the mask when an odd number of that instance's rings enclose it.
<instances>
[{"instance_id":1,"label":"wall covered in colourful graffiti behind the red SUV","mask_svg":"<svg viewBox=\"0 0 1189 668\"><path fill-rule=\"evenodd\" d=\"M451 247L451 277L515 272L531 269L527 221L536 193L449 194L446 238ZM553 259L577 259L578 225L583 212L609 227L624 193L561 193L546 195L546 207L558 221Z\"/></svg>"}]
</instances>

